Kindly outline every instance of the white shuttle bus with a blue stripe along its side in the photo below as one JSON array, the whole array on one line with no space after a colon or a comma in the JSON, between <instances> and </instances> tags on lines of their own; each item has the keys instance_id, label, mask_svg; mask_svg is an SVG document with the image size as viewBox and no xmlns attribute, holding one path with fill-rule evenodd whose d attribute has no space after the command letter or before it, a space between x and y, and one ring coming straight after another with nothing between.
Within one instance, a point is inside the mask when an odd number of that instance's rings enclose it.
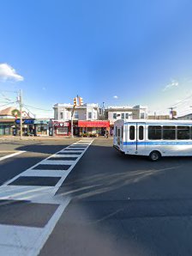
<instances>
[{"instance_id":1,"label":"white shuttle bus with a blue stripe along its side","mask_svg":"<svg viewBox=\"0 0 192 256\"><path fill-rule=\"evenodd\" d=\"M117 120L113 147L127 155L192 156L192 120Z\"/></svg>"}]
</instances>

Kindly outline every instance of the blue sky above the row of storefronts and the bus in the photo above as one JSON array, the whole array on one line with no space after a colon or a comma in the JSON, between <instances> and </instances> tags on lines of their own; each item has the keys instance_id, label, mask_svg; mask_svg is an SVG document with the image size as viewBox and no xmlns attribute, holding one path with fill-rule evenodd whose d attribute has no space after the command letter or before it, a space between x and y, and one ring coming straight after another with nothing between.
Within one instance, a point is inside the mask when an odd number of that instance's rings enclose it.
<instances>
[{"instance_id":1,"label":"blue sky above the row of storefronts and the bus","mask_svg":"<svg viewBox=\"0 0 192 256\"><path fill-rule=\"evenodd\" d=\"M0 64L23 81L1 79L0 90L21 88L27 105L45 109L80 94L183 113L192 105L191 9L189 0L2 0Z\"/></svg>"}]
</instances>

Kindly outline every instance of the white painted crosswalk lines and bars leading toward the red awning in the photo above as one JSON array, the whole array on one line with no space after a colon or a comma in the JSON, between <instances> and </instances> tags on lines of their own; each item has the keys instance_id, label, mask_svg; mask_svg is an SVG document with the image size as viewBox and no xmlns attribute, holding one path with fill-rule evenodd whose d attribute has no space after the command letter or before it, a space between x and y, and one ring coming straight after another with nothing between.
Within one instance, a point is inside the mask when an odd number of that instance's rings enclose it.
<instances>
[{"instance_id":1,"label":"white painted crosswalk lines and bars leading toward the red awning","mask_svg":"<svg viewBox=\"0 0 192 256\"><path fill-rule=\"evenodd\" d=\"M93 142L93 141L92 141ZM87 149L89 148L89 146L91 145L90 142L86 149L83 149L83 151L81 151L81 155L77 154L77 151L75 150L74 153L71 152L71 150L69 150L69 155L68 153L65 151L65 153L67 153L67 155L63 155L64 157L71 157L71 156L75 156L77 159L75 161L73 161L73 163L70 165L69 169L66 171L60 171L60 170L51 170L51 169L33 169L33 168L38 168L39 164L41 166L45 166L45 164L47 166L51 167L51 163L52 160L49 160L50 158L53 157L53 155L50 155L49 157L47 157L45 160L42 160L41 162L38 162L37 164L35 164L33 167L28 168L25 172L17 175L15 178L9 180L8 182L6 182L3 186L0 186L0 198L3 199L15 199L15 200L29 200L31 202L34 203L39 203L39 204L43 204L43 203L48 203L48 204L59 204L56 212L53 214L53 216L51 217L50 221L47 222L47 224L45 225L45 227L43 229L40 230L40 234L38 233L37 235L35 235L35 231L34 231L34 236L37 237L36 241L34 239L30 239L30 235L25 237L25 239L27 239L27 242L22 241L22 244L27 244L27 247L17 247L17 245L14 244L11 247L11 245L6 245L6 247L2 248L2 255L15 255L15 256L20 256L20 255L30 255L30 256L37 256L41 250L41 248L45 245L45 242L47 241L47 239L49 238L49 236L51 235L53 229L55 228L57 221L59 220L59 218L62 216L63 211L66 209L66 207L68 206L69 202L70 202L70 198L66 198L65 197L65 201L63 202L63 196L61 195L56 195L57 190L59 189L59 187L63 184L63 181L67 178L68 174L71 172L71 170L75 167L76 163L79 162L79 160L81 159L81 156L84 155L87 151ZM68 149L69 147L65 148ZM54 154L57 155L58 153L60 153L62 150L58 151L57 153ZM72 154L71 154L72 153ZM76 154L76 155L75 155ZM57 156L56 156L57 157ZM61 157L61 155L58 155L58 157ZM50 164L48 165L45 162L49 162ZM55 162L59 162L59 160L54 161L54 165L56 166ZM62 160L63 162L63 160ZM67 161L64 161L65 163ZM59 166L59 165L58 165ZM39 174L38 174L39 173ZM46 178L48 179L48 175L51 175L50 173L53 174L54 177L56 177L57 175L59 176L59 180L57 181L57 183L54 186L23 186L23 185L9 185L10 183L14 182L16 179L18 178L25 178L25 175L30 174L30 176L32 178L32 175L34 175L33 177L43 177L43 173L46 173ZM60 176L60 174L62 174L62 176ZM16 181L18 182L18 181ZM54 196L54 197L53 197ZM14 227L14 226L12 226ZM23 228L25 230L28 230L28 228ZM0 237L1 237L1 229L0 229ZM17 235L15 235L15 239L21 239L22 237L18 237ZM14 248L14 250L13 250ZM1 252L1 247L0 247L0 252Z\"/></svg>"}]
</instances>

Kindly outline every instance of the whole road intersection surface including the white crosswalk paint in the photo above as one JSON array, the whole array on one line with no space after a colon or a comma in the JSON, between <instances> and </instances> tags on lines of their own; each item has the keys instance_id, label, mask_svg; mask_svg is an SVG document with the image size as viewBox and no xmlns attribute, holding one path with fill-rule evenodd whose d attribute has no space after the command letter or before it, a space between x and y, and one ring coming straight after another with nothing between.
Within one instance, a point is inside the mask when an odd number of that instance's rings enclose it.
<instances>
[{"instance_id":1,"label":"whole road intersection surface including the white crosswalk paint","mask_svg":"<svg viewBox=\"0 0 192 256\"><path fill-rule=\"evenodd\" d=\"M191 158L149 162L112 140L4 142L1 255L191 255Z\"/></svg>"}]
</instances>

